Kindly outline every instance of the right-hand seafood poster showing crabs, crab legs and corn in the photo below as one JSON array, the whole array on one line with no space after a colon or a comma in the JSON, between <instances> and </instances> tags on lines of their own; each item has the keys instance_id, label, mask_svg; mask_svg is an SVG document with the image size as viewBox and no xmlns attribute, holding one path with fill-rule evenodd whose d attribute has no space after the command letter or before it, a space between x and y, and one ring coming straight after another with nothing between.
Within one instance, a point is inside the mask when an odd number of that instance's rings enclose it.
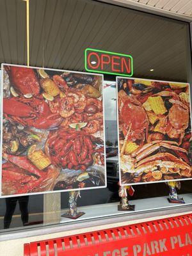
<instances>
[{"instance_id":1,"label":"right-hand seafood poster showing crabs, crab legs and corn","mask_svg":"<svg viewBox=\"0 0 192 256\"><path fill-rule=\"evenodd\" d=\"M192 179L188 83L116 77L120 184Z\"/></svg>"}]
</instances>

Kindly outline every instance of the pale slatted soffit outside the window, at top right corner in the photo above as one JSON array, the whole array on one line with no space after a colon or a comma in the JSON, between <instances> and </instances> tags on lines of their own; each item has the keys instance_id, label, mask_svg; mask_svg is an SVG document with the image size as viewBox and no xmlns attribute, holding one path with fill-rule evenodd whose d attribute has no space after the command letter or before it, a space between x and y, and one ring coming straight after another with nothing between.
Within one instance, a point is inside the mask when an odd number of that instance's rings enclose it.
<instances>
[{"instance_id":1,"label":"pale slatted soffit outside the window, at top right corner","mask_svg":"<svg viewBox=\"0 0 192 256\"><path fill-rule=\"evenodd\" d=\"M192 16L192 0L131 0L146 6Z\"/></svg>"}]
</instances>

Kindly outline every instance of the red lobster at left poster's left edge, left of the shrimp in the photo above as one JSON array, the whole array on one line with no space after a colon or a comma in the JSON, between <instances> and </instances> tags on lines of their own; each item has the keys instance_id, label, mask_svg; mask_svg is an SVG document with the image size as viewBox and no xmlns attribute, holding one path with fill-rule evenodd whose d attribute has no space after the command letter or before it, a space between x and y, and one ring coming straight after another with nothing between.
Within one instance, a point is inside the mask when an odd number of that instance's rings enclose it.
<instances>
[{"instance_id":1,"label":"red lobster at left poster's left edge, left of the shrimp","mask_svg":"<svg viewBox=\"0 0 192 256\"><path fill-rule=\"evenodd\" d=\"M42 99L12 97L3 99L3 112L8 120L37 129L58 127L63 118L52 114L49 105Z\"/></svg>"}]
</instances>

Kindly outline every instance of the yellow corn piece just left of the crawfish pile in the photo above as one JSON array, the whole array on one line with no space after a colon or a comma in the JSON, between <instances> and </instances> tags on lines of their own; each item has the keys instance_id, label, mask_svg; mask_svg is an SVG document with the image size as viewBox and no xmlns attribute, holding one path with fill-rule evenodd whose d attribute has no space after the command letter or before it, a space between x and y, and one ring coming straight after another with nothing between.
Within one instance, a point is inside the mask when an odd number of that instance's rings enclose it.
<instances>
[{"instance_id":1,"label":"yellow corn piece just left of the crawfish pile","mask_svg":"<svg viewBox=\"0 0 192 256\"><path fill-rule=\"evenodd\" d=\"M47 157L42 150L36 150L28 157L31 160L31 162L35 164L35 166L40 170L45 169L47 166L51 164L49 157Z\"/></svg>"}]
</instances>

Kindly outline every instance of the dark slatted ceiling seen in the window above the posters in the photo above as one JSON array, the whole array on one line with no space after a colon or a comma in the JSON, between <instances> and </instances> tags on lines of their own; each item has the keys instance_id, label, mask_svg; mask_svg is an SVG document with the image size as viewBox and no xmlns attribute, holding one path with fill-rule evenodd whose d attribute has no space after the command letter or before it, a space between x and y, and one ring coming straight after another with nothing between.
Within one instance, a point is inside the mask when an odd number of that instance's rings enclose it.
<instances>
[{"instance_id":1,"label":"dark slatted ceiling seen in the window above the posters","mask_svg":"<svg viewBox=\"0 0 192 256\"><path fill-rule=\"evenodd\" d=\"M188 79L186 22L90 0L31 0L29 10L31 66L83 71L91 47L131 54L136 77ZM26 55L26 2L0 0L0 63L26 65Z\"/></svg>"}]
</instances>

